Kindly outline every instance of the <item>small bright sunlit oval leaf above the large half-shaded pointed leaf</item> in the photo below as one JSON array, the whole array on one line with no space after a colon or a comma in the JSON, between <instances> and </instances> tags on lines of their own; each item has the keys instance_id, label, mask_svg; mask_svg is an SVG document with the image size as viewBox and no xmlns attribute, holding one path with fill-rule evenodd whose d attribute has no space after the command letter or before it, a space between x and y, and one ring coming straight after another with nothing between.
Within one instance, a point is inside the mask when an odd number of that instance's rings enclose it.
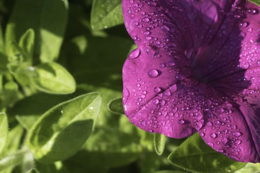
<instances>
[{"instance_id":1,"label":"small bright sunlit oval leaf above the large half-shaded pointed leaf","mask_svg":"<svg viewBox=\"0 0 260 173\"><path fill-rule=\"evenodd\" d=\"M50 62L36 67L33 82L37 89L52 94L68 94L76 89L76 82L61 65Z\"/></svg>"}]
</instances>

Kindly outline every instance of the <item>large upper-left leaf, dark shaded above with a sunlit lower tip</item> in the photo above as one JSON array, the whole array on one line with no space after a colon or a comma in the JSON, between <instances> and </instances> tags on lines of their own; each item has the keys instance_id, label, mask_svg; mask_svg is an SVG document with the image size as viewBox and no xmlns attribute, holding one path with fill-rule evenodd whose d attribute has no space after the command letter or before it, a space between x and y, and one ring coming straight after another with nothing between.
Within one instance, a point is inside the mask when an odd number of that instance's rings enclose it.
<instances>
[{"instance_id":1,"label":"large upper-left leaf, dark shaded above with a sunlit lower tip","mask_svg":"<svg viewBox=\"0 0 260 173\"><path fill-rule=\"evenodd\" d=\"M5 42L18 42L31 28L35 32L35 55L42 62L53 61L59 55L67 13L67 0L16 0L6 26ZM9 49L7 44L6 52Z\"/></svg>"}]
</instances>

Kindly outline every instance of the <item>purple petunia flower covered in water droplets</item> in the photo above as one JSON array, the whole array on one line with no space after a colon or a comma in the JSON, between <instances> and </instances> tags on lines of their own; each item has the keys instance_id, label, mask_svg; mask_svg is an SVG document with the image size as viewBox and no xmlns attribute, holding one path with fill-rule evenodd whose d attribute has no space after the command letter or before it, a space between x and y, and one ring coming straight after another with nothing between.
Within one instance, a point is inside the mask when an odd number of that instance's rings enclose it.
<instances>
[{"instance_id":1,"label":"purple petunia flower covered in water droplets","mask_svg":"<svg viewBox=\"0 0 260 173\"><path fill-rule=\"evenodd\" d=\"M260 6L247 0L122 0L138 48L123 66L135 126L199 132L214 150L260 162Z\"/></svg>"}]
</instances>

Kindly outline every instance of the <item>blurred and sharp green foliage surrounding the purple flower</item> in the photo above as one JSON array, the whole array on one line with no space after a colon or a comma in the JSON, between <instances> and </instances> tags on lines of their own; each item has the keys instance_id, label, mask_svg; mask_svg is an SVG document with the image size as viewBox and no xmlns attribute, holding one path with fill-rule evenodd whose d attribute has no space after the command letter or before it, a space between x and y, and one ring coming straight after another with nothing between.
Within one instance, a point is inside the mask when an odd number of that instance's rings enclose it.
<instances>
[{"instance_id":1,"label":"blurred and sharp green foliage surrounding the purple flower","mask_svg":"<svg viewBox=\"0 0 260 173\"><path fill-rule=\"evenodd\" d=\"M121 0L0 0L0 14L1 173L260 172L198 134L129 122L122 66L137 46Z\"/></svg>"}]
</instances>

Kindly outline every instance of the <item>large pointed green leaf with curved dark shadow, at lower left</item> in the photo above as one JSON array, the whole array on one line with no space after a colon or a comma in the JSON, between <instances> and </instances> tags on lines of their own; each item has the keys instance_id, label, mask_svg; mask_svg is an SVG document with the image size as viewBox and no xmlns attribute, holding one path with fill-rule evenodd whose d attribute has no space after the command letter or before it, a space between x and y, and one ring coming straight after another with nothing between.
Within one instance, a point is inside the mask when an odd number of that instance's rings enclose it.
<instances>
[{"instance_id":1,"label":"large pointed green leaf with curved dark shadow, at lower left","mask_svg":"<svg viewBox=\"0 0 260 173\"><path fill-rule=\"evenodd\" d=\"M30 129L27 144L43 163L75 154L90 136L101 107L101 96L92 92L60 103Z\"/></svg>"}]
</instances>

